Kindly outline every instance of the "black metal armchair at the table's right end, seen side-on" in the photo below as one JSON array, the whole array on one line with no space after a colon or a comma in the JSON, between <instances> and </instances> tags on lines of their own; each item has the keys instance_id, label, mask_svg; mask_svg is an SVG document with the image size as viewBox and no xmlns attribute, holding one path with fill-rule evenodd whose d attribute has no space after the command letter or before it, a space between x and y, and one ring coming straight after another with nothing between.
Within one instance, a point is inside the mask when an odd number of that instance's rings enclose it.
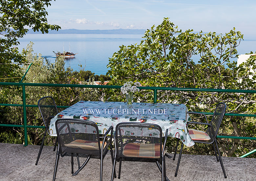
<instances>
[{"instance_id":1,"label":"black metal armchair at the table's right end, seen side-on","mask_svg":"<svg viewBox=\"0 0 256 181\"><path fill-rule=\"evenodd\" d=\"M189 114L201 114L206 119L206 123L191 121L191 122L187 123L187 126L189 124L200 124L200 125L207 125L208 126L208 129L207 129L206 132L199 131L199 130L194 130L194 129L188 129L189 135L191 136L191 139L196 143L206 143L206 144L212 144L213 145L216 159L217 159L217 161L220 161L221 168L222 168L222 171L224 173L224 177L227 178L225 170L224 170L224 166L223 166L223 163L222 163L218 143L217 143L217 133L219 131L219 128L220 128L222 119L224 117L225 111L226 111L226 104L225 103L217 104L217 107L216 107L216 109L213 113L212 120L211 120L210 123L208 123L207 118L206 118L205 114L203 114L203 113L187 112ZM178 148L178 143L179 143L179 140L177 141L177 144L176 144L176 149L175 149L175 153L174 153L174 156L173 156L173 160L175 160L175 156L176 156L176 152L177 152L177 148ZM217 155L214 143L216 145L219 156ZM179 165L180 165L180 161L181 161L182 148L183 148L183 143L181 144L181 151L180 151L180 155L179 155L179 159L178 159L178 164L177 164L175 176L177 176L177 173L178 173L178 169L179 169Z\"/></svg>"}]
</instances>

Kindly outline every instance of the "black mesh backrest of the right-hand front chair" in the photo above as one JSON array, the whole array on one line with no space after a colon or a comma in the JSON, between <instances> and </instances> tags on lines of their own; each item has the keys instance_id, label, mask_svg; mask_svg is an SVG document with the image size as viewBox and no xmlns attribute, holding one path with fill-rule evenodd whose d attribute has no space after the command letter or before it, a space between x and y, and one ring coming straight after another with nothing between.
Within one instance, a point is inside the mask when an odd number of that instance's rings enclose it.
<instances>
[{"instance_id":1,"label":"black mesh backrest of the right-hand front chair","mask_svg":"<svg viewBox=\"0 0 256 181\"><path fill-rule=\"evenodd\" d=\"M162 129L159 125L135 122L119 123L116 126L115 134L119 157L161 157ZM136 154L134 155L134 153Z\"/></svg>"}]
</instances>

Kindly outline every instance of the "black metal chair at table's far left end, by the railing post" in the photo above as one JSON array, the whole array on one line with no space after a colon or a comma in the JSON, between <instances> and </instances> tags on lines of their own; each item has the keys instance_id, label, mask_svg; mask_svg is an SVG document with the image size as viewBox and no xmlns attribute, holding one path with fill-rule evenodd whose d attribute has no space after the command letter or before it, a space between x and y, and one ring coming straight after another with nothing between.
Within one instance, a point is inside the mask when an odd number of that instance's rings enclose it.
<instances>
[{"instance_id":1,"label":"black metal chair at table's far left end, by the railing post","mask_svg":"<svg viewBox=\"0 0 256 181\"><path fill-rule=\"evenodd\" d=\"M51 97L51 96L42 97L41 99L39 99L37 105L38 105L40 114L41 114L41 116L43 118L43 122L44 122L44 126L45 126L45 132L44 132L44 137L43 137L43 140L42 140L42 144L41 144L41 147L40 147L40 150L39 150L39 153L38 153L35 165L37 165L39 157L41 155L46 133L50 134L49 133L49 129L48 129L49 128L49 124L50 124L50 120L56 114L59 113L58 110L57 110L55 101L54 101L53 97ZM53 151L55 151L55 149L56 149L56 144L57 144L57 139L56 139Z\"/></svg>"}]
</instances>

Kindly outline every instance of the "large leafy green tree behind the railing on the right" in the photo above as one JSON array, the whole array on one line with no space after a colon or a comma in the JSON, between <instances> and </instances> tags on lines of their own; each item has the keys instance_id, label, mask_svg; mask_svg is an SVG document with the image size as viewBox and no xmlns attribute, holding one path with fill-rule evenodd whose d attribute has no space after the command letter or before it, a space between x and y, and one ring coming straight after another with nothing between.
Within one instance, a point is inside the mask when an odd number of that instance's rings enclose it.
<instances>
[{"instance_id":1,"label":"large leafy green tree behind the railing on the right","mask_svg":"<svg viewBox=\"0 0 256 181\"><path fill-rule=\"evenodd\" d=\"M194 33L193 30L181 31L164 18L160 25L147 30L143 38L139 44L120 46L110 58L108 74L112 77L111 85L139 81L142 86L155 87L255 89L255 75L250 71L256 68L255 56L239 67L234 61L238 57L236 47L243 40L243 35L235 28L224 34ZM249 75L253 77L249 78ZM114 101L124 100L118 91L110 91L109 95ZM152 96L152 91L140 91L136 99L152 102ZM158 91L157 101L182 103L189 111L198 112L213 112L218 102L227 104L227 113L254 114L255 111L254 94ZM251 122L255 124L254 119L225 116L220 133L247 135L245 125ZM238 148L239 140L219 139L219 142L224 155L231 156ZM209 152L214 155L213 151ZM243 153L240 150L236 155Z\"/></svg>"}]
</instances>

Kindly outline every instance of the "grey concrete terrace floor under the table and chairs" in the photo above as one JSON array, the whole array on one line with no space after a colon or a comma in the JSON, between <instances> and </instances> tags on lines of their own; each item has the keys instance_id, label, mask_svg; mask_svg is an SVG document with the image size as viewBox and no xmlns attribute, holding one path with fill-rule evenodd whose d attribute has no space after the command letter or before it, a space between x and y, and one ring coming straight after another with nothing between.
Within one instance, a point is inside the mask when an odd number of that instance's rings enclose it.
<instances>
[{"instance_id":1,"label":"grey concrete terrace floor under the table and chairs","mask_svg":"<svg viewBox=\"0 0 256 181\"><path fill-rule=\"evenodd\" d=\"M0 181L52 180L56 152L53 147L44 146L38 165L35 161L40 146L23 147L18 144L0 143ZM171 154L172 155L172 154ZM173 155L172 155L173 156ZM215 156L182 154L178 176L174 177L178 156L175 161L166 157L166 175L171 181L255 181L256 159L223 157L227 178ZM80 164L85 158L80 158ZM116 171L118 172L119 162ZM99 159L90 159L76 176L71 174L71 157L60 157L56 181L98 181ZM74 157L74 170L77 161ZM111 180L112 162L110 152L103 160L103 180ZM123 161L121 179L115 181L160 181L161 174L156 163Z\"/></svg>"}]
</instances>

